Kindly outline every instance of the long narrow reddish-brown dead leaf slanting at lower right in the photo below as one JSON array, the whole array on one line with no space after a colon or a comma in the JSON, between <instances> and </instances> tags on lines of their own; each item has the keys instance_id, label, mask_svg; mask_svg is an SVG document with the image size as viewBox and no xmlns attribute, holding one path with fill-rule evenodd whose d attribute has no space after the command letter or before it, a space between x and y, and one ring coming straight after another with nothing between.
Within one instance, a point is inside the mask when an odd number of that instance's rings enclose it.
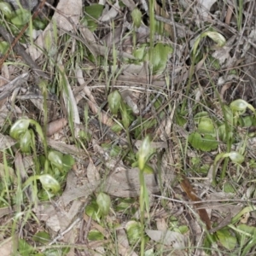
<instances>
[{"instance_id":1,"label":"long narrow reddish-brown dead leaf slanting at lower right","mask_svg":"<svg viewBox=\"0 0 256 256\"><path fill-rule=\"evenodd\" d=\"M186 194L189 196L189 199L192 201L201 201L201 199L196 195L195 189L192 188L191 184L187 177L182 175L182 180L180 181L180 185ZM195 204L195 207L201 207L201 203ZM212 229L211 220L208 216L206 209L198 209L197 210L201 220L207 225L207 230Z\"/></svg>"}]
</instances>

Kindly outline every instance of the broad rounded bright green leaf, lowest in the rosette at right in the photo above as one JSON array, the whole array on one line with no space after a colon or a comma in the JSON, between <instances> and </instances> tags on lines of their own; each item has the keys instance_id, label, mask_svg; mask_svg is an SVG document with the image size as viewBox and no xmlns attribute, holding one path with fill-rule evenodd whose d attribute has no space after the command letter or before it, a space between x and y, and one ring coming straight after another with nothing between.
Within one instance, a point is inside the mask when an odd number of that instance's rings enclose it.
<instances>
[{"instance_id":1,"label":"broad rounded bright green leaf, lowest in the rosette at right","mask_svg":"<svg viewBox=\"0 0 256 256\"><path fill-rule=\"evenodd\" d=\"M218 148L218 141L212 135L205 135L201 137L198 132L192 132L189 134L189 143L195 149L200 149L202 151L211 151Z\"/></svg>"}]
</instances>

